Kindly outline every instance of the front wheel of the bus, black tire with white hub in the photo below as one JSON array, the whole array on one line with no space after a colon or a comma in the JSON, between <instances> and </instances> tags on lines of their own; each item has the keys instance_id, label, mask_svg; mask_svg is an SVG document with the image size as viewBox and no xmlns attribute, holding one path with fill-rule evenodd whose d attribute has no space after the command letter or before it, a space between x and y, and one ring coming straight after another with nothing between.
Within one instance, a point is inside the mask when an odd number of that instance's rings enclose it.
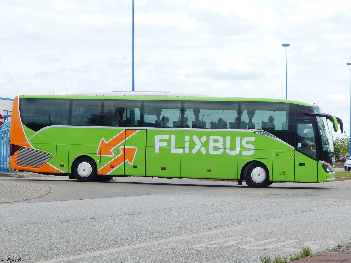
<instances>
[{"instance_id":1,"label":"front wheel of the bus, black tire with white hub","mask_svg":"<svg viewBox=\"0 0 351 263\"><path fill-rule=\"evenodd\" d=\"M244 170L245 183L250 187L262 188L269 186L269 171L264 164L252 162Z\"/></svg>"}]
</instances>

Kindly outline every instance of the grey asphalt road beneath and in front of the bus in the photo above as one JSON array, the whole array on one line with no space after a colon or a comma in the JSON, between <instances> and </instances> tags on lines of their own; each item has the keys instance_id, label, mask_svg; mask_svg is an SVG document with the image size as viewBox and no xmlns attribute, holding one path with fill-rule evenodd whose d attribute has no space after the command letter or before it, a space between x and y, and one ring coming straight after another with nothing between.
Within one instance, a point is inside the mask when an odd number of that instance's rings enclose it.
<instances>
[{"instance_id":1,"label":"grey asphalt road beneath and in front of the bus","mask_svg":"<svg viewBox=\"0 0 351 263\"><path fill-rule=\"evenodd\" d=\"M51 189L0 205L5 262L260 262L264 250L318 252L351 238L351 181L253 189L195 179L1 180Z\"/></svg>"}]
</instances>

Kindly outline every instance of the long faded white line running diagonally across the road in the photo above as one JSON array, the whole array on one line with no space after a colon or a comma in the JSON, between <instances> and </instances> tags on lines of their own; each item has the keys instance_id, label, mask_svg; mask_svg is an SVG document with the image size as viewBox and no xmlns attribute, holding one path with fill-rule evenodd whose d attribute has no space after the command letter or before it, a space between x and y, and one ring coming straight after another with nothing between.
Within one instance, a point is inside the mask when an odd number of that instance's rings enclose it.
<instances>
[{"instance_id":1,"label":"long faded white line running diagonally across the road","mask_svg":"<svg viewBox=\"0 0 351 263\"><path fill-rule=\"evenodd\" d=\"M271 220L271 221L259 222L259 223L254 223L254 224L240 225L237 227L212 230L212 231L207 231L207 232L192 234L192 235L186 235L186 236L166 238L166 239L161 239L161 240L152 241L152 242L129 245L126 247L105 249L105 250L100 250L100 251L95 251L95 252L90 252L90 253L85 253L85 254L80 254L80 255L75 255L75 256L55 258L55 259L50 259L47 261L40 261L40 262L36 262L36 263L57 263L57 262L71 261L73 259L81 259L81 258L86 258L86 257L93 257L93 256L99 256L99 255L103 255L103 254L115 253L115 252L129 250L129 249L143 248L143 247L147 247L147 246L151 246L151 245L163 244L163 243L172 242L172 241L185 240L185 239L193 238L193 237L207 236L207 235L217 234L217 233L221 233L221 232L232 231L232 230L236 230L236 229L240 229L240 228L253 227L255 225L262 225L262 224L276 223L276 222L278 222L278 221Z\"/></svg>"}]
</instances>

